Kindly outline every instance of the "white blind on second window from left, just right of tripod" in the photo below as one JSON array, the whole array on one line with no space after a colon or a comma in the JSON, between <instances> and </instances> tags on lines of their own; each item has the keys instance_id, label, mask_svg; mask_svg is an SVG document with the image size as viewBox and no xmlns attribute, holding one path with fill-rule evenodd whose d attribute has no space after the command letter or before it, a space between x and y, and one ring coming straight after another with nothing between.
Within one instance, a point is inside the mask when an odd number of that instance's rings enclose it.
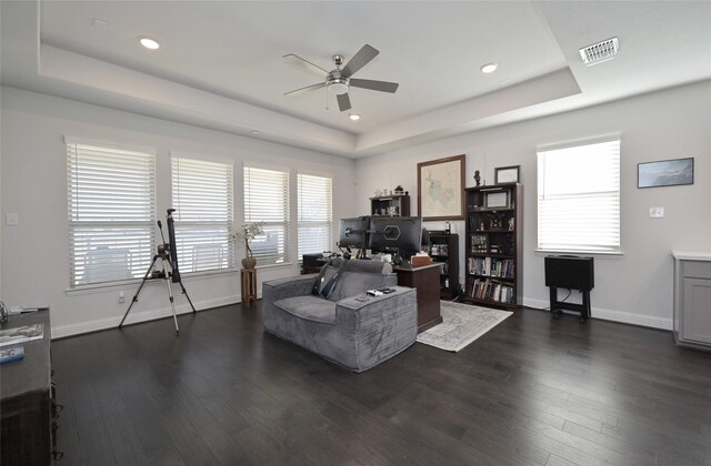
<instances>
[{"instance_id":1,"label":"white blind on second window from left, just right of tripod","mask_svg":"<svg viewBox=\"0 0 711 466\"><path fill-rule=\"evenodd\" d=\"M181 273L231 267L232 164L171 158L176 252Z\"/></svg>"}]
</instances>

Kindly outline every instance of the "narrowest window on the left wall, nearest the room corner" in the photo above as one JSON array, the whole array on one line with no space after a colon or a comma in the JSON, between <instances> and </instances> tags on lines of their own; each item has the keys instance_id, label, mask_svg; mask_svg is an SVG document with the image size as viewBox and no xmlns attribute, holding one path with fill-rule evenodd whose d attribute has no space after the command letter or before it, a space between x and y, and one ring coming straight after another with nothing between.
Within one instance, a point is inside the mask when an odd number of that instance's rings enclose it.
<instances>
[{"instance_id":1,"label":"narrowest window on the left wall, nearest the room corner","mask_svg":"<svg viewBox=\"0 0 711 466\"><path fill-rule=\"evenodd\" d=\"M331 179L301 174L299 192L299 257L330 251L332 232Z\"/></svg>"}]
</instances>

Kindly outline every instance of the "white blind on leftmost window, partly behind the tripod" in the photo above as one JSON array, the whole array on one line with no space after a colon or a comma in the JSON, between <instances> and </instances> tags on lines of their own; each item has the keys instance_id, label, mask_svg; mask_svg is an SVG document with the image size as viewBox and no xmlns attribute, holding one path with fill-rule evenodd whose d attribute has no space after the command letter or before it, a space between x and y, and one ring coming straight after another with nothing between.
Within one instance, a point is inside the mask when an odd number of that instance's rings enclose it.
<instances>
[{"instance_id":1,"label":"white blind on leftmost window, partly behind the tripod","mask_svg":"<svg viewBox=\"0 0 711 466\"><path fill-rule=\"evenodd\" d=\"M70 287L142 277L151 264L156 154L67 142Z\"/></svg>"}]
</instances>

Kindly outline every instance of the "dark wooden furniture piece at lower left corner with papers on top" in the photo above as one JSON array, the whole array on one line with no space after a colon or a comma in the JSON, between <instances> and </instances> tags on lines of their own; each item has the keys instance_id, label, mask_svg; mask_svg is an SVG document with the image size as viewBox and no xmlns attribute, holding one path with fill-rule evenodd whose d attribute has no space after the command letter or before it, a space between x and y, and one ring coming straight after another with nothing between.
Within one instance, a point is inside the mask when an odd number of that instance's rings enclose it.
<instances>
[{"instance_id":1,"label":"dark wooden furniture piece at lower left corner with papers on top","mask_svg":"<svg viewBox=\"0 0 711 466\"><path fill-rule=\"evenodd\" d=\"M2 328L44 324L44 336L20 343L24 357L0 366L2 466L52 464L52 391L49 311L11 315Z\"/></svg>"}]
</instances>

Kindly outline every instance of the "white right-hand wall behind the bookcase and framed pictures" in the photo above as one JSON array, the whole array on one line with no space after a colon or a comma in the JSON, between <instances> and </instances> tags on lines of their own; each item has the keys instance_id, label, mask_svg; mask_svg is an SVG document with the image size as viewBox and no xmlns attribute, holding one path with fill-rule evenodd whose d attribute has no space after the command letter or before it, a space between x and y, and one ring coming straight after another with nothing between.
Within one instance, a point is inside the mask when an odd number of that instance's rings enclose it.
<instances>
[{"instance_id":1,"label":"white right-hand wall behind the bookcase and framed pictures","mask_svg":"<svg viewBox=\"0 0 711 466\"><path fill-rule=\"evenodd\" d=\"M523 304L548 307L543 257L537 246L537 164L540 145L620 134L621 246L619 257L595 257L594 317L671 328L672 260L670 251L711 251L711 81L695 83L559 115L470 133L359 160L359 214L378 189L401 184L417 212L417 164L467 154L467 186L481 170L493 184L495 166L521 165L524 193ZM485 171L484 171L485 156ZM637 164L693 156L694 184L637 188ZM663 206L664 219L649 219L650 206ZM425 223L439 230L443 222ZM460 233L463 278L464 223ZM462 282L463 283L463 282ZM579 300L578 300L579 302Z\"/></svg>"}]
</instances>

